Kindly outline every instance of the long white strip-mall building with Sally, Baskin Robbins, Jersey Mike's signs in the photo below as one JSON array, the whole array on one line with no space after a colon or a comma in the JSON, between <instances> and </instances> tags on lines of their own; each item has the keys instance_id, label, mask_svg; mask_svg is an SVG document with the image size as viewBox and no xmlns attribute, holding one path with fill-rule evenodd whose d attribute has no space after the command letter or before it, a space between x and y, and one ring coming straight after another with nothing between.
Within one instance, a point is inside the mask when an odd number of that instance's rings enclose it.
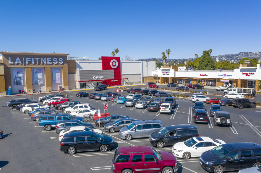
<instances>
[{"instance_id":1,"label":"long white strip-mall building with Sally, Baskin Robbins, Jersey Mike's signs","mask_svg":"<svg viewBox=\"0 0 261 173\"><path fill-rule=\"evenodd\" d=\"M228 86L256 88L257 81L261 78L261 64L257 67L240 66L234 71L178 71L177 66L162 67L152 71L151 80L161 84L174 82L177 84L202 84L203 86Z\"/></svg>"}]
</instances>

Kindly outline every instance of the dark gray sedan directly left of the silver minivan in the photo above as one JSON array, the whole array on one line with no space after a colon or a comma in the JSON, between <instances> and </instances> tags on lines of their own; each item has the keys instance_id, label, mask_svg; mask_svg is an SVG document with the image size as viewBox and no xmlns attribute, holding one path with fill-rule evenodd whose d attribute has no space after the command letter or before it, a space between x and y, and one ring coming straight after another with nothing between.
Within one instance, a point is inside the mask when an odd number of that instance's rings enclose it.
<instances>
[{"instance_id":1,"label":"dark gray sedan directly left of the silver minivan","mask_svg":"<svg viewBox=\"0 0 261 173\"><path fill-rule=\"evenodd\" d=\"M104 130L106 132L114 133L116 131L120 131L122 127L128 126L129 124L138 121L137 119L131 119L131 118L121 118L117 119L114 122L110 122L105 125Z\"/></svg>"}]
</instances>

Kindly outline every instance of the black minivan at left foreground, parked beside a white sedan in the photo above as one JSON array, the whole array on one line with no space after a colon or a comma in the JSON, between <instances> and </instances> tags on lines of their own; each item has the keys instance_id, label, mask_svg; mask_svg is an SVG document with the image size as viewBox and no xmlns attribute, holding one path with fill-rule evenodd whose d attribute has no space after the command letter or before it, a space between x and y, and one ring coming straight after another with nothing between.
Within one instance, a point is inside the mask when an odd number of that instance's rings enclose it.
<instances>
[{"instance_id":1,"label":"black minivan at left foreground, parked beside a white sedan","mask_svg":"<svg viewBox=\"0 0 261 173\"><path fill-rule=\"evenodd\" d=\"M100 150L106 152L113 147L113 140L111 137L99 134L92 131L73 132L64 134L61 140L60 150L74 154L82 151Z\"/></svg>"}]
</instances>

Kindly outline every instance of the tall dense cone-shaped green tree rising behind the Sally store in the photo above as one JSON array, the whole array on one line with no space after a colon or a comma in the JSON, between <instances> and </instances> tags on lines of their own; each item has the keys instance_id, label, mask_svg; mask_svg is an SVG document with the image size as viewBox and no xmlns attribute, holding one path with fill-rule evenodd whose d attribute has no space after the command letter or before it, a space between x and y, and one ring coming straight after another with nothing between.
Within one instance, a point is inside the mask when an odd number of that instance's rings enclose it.
<instances>
[{"instance_id":1,"label":"tall dense cone-shaped green tree rising behind the Sally store","mask_svg":"<svg viewBox=\"0 0 261 173\"><path fill-rule=\"evenodd\" d=\"M210 58L209 51L203 51L203 54L197 64L199 70L215 70L215 61Z\"/></svg>"}]
</instances>

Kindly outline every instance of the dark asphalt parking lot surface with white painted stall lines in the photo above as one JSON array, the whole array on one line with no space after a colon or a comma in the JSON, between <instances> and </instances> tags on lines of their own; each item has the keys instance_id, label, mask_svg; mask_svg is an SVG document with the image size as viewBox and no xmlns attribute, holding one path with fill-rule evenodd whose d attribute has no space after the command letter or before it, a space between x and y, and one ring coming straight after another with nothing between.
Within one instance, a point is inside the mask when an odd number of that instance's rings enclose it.
<instances>
[{"instance_id":1,"label":"dark asphalt parking lot surface with white painted stall lines","mask_svg":"<svg viewBox=\"0 0 261 173\"><path fill-rule=\"evenodd\" d=\"M172 88L174 89L174 87ZM115 88L111 88L106 89L105 91L100 91L99 93L114 92L114 90ZM205 91L207 89L203 90ZM226 143L254 142L261 144L261 109L222 107L224 109L223 111L230 113L232 126L222 127L218 125L215 127L213 118L211 117L208 124L193 123L193 102L189 101L189 99L177 97L176 107L171 112L171 115L169 115L160 114L160 112L148 112L147 109L125 107L123 104L116 104L116 102L103 102L100 100L89 99L88 97L77 98L75 96L77 92L78 91L62 92L62 94L68 94L69 99L79 100L81 103L89 102L93 109L100 109L101 113L104 112L104 104L108 104L108 112L110 114L128 115L130 118L139 120L159 119L162 121L164 127L174 124L193 124L198 128L200 136L221 139ZM86 92L91 91L87 90ZM213 92L211 91L210 93ZM223 93L223 91L218 91L216 93ZM124 91L123 94L127 96L129 93ZM36 94L34 97L38 98L45 95L46 94ZM186 93L186 95L191 96L192 93ZM145 95L144 97L146 96L148 95ZM114 148L111 151L105 153L100 151L79 152L74 155L61 152L60 141L58 140L59 135L56 134L55 129L45 131L38 127L39 122L32 121L27 114L11 109L5 104L5 102L8 102L12 98L22 97L24 96L0 97L0 128L5 132L4 139L0 140L1 172L111 172L111 161L117 147L152 147L148 138L126 141L119 137L119 132L108 133L101 128L104 134L112 137L115 142ZM223 99L223 96L219 97ZM259 97L259 95L257 97ZM213 98L217 98L217 96L214 96ZM251 99L250 101L254 101L254 99ZM255 101L257 101L257 98ZM209 116L210 104L205 105ZM57 111L61 112L61 110ZM95 128L99 128L95 126L93 121L91 121L91 123ZM158 151L171 152L172 146L155 149ZM178 159L178 163L178 172L206 172L200 166L198 157L188 160Z\"/></svg>"}]
</instances>

